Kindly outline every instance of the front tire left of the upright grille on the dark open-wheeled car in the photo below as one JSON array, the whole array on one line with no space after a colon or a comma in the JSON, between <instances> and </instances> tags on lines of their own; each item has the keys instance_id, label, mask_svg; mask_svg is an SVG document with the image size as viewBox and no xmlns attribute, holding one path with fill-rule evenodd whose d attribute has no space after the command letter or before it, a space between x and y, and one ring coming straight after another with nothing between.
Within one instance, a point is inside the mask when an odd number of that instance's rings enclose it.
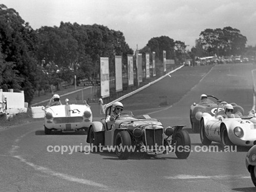
<instances>
[{"instance_id":1,"label":"front tire left of the upright grille on the dark open-wheeled car","mask_svg":"<svg viewBox=\"0 0 256 192\"><path fill-rule=\"evenodd\" d=\"M120 131L117 133L115 138L116 155L119 159L128 159L131 151L131 136L127 131ZM120 148L120 147L123 148ZM129 149L127 149L129 148Z\"/></svg>"}]
</instances>

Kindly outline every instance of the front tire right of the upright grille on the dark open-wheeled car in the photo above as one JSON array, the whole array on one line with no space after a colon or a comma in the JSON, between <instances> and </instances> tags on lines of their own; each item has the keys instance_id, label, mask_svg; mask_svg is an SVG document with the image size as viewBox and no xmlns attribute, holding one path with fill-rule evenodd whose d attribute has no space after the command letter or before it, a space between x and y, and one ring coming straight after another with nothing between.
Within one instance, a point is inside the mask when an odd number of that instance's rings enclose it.
<instances>
[{"instance_id":1,"label":"front tire right of the upright grille on the dark open-wheeled car","mask_svg":"<svg viewBox=\"0 0 256 192\"><path fill-rule=\"evenodd\" d=\"M187 131L178 131L175 134L176 150L178 159L186 159L190 154L191 142Z\"/></svg>"}]
</instances>

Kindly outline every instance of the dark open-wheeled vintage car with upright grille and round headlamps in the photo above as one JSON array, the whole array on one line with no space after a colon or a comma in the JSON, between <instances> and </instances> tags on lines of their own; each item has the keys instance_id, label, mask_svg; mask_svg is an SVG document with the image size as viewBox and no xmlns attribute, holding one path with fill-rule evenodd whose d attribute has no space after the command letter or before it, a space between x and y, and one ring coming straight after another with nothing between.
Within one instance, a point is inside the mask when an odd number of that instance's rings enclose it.
<instances>
[{"instance_id":1,"label":"dark open-wheeled vintage car with upright grille and round headlamps","mask_svg":"<svg viewBox=\"0 0 256 192\"><path fill-rule=\"evenodd\" d=\"M106 109L106 116L111 112L112 105ZM113 147L119 159L129 158L131 152L157 155L175 151L179 159L190 154L190 137L182 130L185 125L164 129L159 120L148 115L135 118L130 111L123 111L111 120L114 122L106 122L105 117L90 127L87 142L94 152L100 151L100 147Z\"/></svg>"}]
</instances>

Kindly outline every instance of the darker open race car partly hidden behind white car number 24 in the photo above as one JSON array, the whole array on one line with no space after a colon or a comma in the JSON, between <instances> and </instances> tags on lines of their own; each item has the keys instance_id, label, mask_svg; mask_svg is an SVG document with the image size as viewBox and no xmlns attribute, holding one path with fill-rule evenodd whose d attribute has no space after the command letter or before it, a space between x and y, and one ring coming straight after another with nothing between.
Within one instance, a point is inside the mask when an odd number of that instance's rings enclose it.
<instances>
[{"instance_id":1,"label":"darker open race car partly hidden behind white car number 24","mask_svg":"<svg viewBox=\"0 0 256 192\"><path fill-rule=\"evenodd\" d=\"M212 95L207 95L207 99L204 102L199 102L199 103L193 103L190 106L190 123L191 123L191 128L194 133L199 133L200 132L200 120L202 117L203 113L208 113L211 116L215 115L215 112L217 110L218 104L221 102L218 98ZM209 99L211 98L211 99ZM244 109L237 105L236 103L230 103L233 105L234 112L241 112L242 115L244 115Z\"/></svg>"}]
</instances>

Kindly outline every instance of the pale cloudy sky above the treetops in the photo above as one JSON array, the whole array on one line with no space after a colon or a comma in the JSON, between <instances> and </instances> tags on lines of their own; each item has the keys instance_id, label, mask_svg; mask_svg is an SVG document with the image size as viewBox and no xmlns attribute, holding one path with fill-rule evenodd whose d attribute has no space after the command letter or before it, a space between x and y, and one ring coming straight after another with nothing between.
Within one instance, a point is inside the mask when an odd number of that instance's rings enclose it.
<instances>
[{"instance_id":1,"label":"pale cloudy sky above the treetops","mask_svg":"<svg viewBox=\"0 0 256 192\"><path fill-rule=\"evenodd\" d=\"M33 29L60 22L103 25L121 31L135 50L153 37L168 36L187 48L205 29L232 27L256 46L255 0L0 0Z\"/></svg>"}]
</instances>

